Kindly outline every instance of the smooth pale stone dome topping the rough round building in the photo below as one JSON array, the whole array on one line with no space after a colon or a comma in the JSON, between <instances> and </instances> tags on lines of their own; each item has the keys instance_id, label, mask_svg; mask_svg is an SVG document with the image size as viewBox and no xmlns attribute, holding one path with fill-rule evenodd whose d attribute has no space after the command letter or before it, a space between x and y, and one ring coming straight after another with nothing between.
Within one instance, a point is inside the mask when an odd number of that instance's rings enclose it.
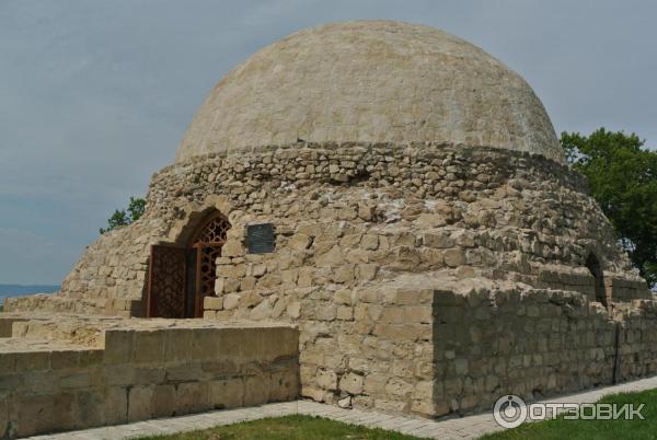
<instances>
[{"instance_id":1,"label":"smooth pale stone dome topping the rough round building","mask_svg":"<svg viewBox=\"0 0 657 440\"><path fill-rule=\"evenodd\" d=\"M519 74L442 31L389 21L321 25L258 50L212 89L176 161L299 139L464 143L564 162Z\"/></svg>"}]
</instances>

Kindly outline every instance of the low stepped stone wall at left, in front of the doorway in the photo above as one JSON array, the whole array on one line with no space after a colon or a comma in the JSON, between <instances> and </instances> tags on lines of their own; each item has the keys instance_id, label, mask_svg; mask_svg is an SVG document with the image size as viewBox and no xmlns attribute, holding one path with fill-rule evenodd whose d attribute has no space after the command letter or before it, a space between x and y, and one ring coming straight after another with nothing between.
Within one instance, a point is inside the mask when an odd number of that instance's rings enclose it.
<instances>
[{"instance_id":1,"label":"low stepped stone wall at left, in front of the doorway","mask_svg":"<svg viewBox=\"0 0 657 440\"><path fill-rule=\"evenodd\" d=\"M150 329L126 323L105 329L104 348L0 338L0 437L298 396L295 328L207 322L166 328L173 324L158 321Z\"/></svg>"}]
</instances>

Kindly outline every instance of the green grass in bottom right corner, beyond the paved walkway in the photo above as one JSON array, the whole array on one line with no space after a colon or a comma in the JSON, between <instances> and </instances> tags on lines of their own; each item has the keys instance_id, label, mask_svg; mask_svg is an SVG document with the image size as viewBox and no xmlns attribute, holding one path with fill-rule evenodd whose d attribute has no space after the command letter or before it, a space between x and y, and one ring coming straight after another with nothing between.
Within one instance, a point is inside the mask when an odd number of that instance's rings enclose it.
<instances>
[{"instance_id":1,"label":"green grass in bottom right corner, beyond the paved walkway","mask_svg":"<svg viewBox=\"0 0 657 440\"><path fill-rule=\"evenodd\" d=\"M510 439L657 439L657 390L641 393L624 393L607 396L599 401L609 404L645 403L642 410L645 420L554 420L523 424L515 429L484 436L485 440Z\"/></svg>"}]
</instances>

